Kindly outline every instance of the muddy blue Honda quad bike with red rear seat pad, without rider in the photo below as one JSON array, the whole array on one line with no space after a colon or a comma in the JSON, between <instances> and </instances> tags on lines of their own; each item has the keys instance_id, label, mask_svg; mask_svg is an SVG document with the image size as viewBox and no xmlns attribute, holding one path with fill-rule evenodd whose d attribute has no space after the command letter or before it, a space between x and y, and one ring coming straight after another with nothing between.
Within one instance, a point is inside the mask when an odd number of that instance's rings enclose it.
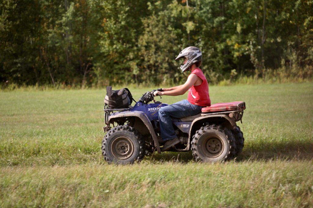
<instances>
[{"instance_id":1,"label":"muddy blue Honda quad bike with red rear seat pad, without rider","mask_svg":"<svg viewBox=\"0 0 313 208\"><path fill-rule=\"evenodd\" d=\"M112 109L105 105L103 130L107 133L101 147L105 161L128 164L141 161L146 152L161 153L158 111L168 104L156 102L154 91L144 93L135 106ZM245 108L245 102L217 103L197 115L172 118L180 143L167 151L192 150L195 160L204 162L233 159L244 147L243 133L236 122L241 121Z\"/></svg>"}]
</instances>

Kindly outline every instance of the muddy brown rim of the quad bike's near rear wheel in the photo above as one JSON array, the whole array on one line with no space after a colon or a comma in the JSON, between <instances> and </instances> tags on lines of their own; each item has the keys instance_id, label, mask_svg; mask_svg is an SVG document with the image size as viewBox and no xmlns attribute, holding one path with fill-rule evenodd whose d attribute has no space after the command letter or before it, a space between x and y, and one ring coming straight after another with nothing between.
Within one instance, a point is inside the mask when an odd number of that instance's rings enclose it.
<instances>
[{"instance_id":1,"label":"muddy brown rim of the quad bike's near rear wheel","mask_svg":"<svg viewBox=\"0 0 313 208\"><path fill-rule=\"evenodd\" d=\"M223 142L218 137L207 136L206 138L203 139L200 145L202 152L207 157L214 158L220 156L223 153L224 149Z\"/></svg>"}]
</instances>

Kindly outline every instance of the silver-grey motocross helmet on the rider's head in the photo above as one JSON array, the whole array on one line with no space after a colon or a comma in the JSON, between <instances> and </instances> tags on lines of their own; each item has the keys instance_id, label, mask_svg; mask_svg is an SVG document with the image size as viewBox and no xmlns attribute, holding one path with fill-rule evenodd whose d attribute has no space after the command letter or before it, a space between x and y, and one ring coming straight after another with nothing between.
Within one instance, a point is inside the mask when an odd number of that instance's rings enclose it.
<instances>
[{"instance_id":1,"label":"silver-grey motocross helmet on the rider's head","mask_svg":"<svg viewBox=\"0 0 313 208\"><path fill-rule=\"evenodd\" d=\"M180 66L182 72L186 72L193 64L202 61L202 53L199 48L190 46L182 50L182 52L178 54L175 60L180 58L187 58L185 65Z\"/></svg>"}]
</instances>

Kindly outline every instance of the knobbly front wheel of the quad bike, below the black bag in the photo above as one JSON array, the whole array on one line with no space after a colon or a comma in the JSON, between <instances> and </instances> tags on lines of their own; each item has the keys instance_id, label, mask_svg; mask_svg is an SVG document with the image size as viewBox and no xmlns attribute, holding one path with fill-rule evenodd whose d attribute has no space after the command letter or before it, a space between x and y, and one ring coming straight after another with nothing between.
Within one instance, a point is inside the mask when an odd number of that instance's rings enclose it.
<instances>
[{"instance_id":1,"label":"knobbly front wheel of the quad bike, below the black bag","mask_svg":"<svg viewBox=\"0 0 313 208\"><path fill-rule=\"evenodd\" d=\"M145 156L145 141L131 126L116 126L102 141L102 155L109 164L132 164Z\"/></svg>"}]
</instances>

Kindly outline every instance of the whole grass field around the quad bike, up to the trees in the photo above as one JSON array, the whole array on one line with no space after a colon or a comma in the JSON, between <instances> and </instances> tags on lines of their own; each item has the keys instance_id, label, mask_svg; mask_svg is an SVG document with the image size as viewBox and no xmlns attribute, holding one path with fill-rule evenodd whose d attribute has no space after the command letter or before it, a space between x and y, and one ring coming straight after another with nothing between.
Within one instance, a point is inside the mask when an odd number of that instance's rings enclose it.
<instances>
[{"instance_id":1,"label":"whole grass field around the quad bike, up to the trees","mask_svg":"<svg viewBox=\"0 0 313 208\"><path fill-rule=\"evenodd\" d=\"M134 98L151 90L130 89ZM107 165L105 90L0 92L0 207L312 207L313 83L212 86L212 103L245 101L234 161L191 152ZM187 96L162 97L173 103Z\"/></svg>"}]
</instances>

